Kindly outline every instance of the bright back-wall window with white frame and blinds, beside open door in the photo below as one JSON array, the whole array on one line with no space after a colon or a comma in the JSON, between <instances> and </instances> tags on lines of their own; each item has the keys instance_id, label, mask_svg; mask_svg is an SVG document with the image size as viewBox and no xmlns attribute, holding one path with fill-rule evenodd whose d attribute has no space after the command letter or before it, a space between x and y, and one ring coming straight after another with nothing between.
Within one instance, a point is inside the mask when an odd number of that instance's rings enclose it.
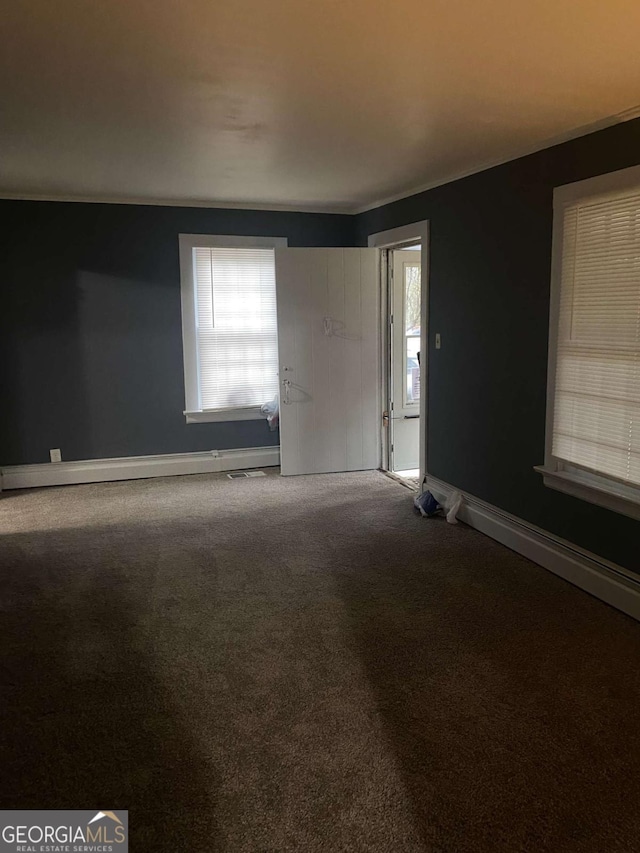
<instances>
[{"instance_id":1,"label":"bright back-wall window with white frame and blinds, beside open door","mask_svg":"<svg viewBox=\"0 0 640 853\"><path fill-rule=\"evenodd\" d=\"M278 392L280 237L180 235L187 423L262 417Z\"/></svg>"}]
</instances>

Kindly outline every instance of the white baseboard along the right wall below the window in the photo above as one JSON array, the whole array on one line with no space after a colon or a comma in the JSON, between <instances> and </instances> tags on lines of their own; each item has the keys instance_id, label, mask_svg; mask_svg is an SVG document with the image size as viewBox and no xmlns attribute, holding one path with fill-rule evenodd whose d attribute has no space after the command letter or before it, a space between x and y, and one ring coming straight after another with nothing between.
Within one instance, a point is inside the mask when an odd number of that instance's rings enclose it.
<instances>
[{"instance_id":1,"label":"white baseboard along the right wall below the window","mask_svg":"<svg viewBox=\"0 0 640 853\"><path fill-rule=\"evenodd\" d=\"M461 521L640 620L640 576L435 477L427 477L426 488L445 506L454 492L460 492Z\"/></svg>"}]
</instances>

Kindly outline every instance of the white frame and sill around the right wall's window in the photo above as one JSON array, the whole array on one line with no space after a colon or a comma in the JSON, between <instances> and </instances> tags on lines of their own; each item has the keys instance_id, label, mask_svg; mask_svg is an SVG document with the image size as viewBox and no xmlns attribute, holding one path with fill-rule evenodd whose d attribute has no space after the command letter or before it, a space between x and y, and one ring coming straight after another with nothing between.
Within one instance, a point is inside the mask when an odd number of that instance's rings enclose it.
<instances>
[{"instance_id":1,"label":"white frame and sill around the right wall's window","mask_svg":"<svg viewBox=\"0 0 640 853\"><path fill-rule=\"evenodd\" d=\"M605 200L621 193L640 190L640 166L621 169L584 181L556 187L553 191L553 239L551 293L549 307L549 352L547 367L547 411L544 464L534 470L542 474L545 486L580 498L631 518L640 519L640 487L597 474L553 455L555 380L562 283L562 247L565 208L577 201Z\"/></svg>"}]
</instances>

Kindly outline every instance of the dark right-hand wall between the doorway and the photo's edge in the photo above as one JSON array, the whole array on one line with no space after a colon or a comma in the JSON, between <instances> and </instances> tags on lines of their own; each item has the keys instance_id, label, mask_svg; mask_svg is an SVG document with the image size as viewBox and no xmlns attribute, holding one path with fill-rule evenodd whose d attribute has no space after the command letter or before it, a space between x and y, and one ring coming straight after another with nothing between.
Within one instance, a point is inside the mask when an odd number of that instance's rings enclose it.
<instances>
[{"instance_id":1,"label":"dark right-hand wall between the doorway and the photo's edge","mask_svg":"<svg viewBox=\"0 0 640 853\"><path fill-rule=\"evenodd\" d=\"M640 571L640 523L543 486L553 188L640 163L640 120L357 217L430 221L429 472ZM434 349L434 334L442 349Z\"/></svg>"}]
</instances>

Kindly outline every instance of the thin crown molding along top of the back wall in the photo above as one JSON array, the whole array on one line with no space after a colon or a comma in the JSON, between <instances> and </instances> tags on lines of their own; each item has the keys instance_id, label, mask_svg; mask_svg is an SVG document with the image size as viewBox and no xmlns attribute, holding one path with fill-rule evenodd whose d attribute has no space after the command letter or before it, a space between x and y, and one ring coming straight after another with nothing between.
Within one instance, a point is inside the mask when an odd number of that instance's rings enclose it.
<instances>
[{"instance_id":1,"label":"thin crown molding along top of the back wall","mask_svg":"<svg viewBox=\"0 0 640 853\"><path fill-rule=\"evenodd\" d=\"M132 204L143 207L197 207L211 210L261 210L273 213L325 213L350 216L353 207L323 207L322 205L265 204L263 202L202 201L194 199L123 198L120 196L74 196L63 193L18 193L0 189L0 201L57 201L74 204Z\"/></svg>"}]
</instances>

